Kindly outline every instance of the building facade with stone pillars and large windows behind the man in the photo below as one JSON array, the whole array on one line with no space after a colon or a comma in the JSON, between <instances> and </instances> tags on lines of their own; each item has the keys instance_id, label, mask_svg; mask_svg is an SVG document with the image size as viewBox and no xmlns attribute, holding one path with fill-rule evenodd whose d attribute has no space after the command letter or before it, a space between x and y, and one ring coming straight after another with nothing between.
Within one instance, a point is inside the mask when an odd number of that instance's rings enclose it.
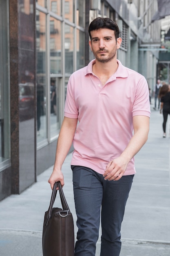
<instances>
[{"instance_id":1,"label":"building facade with stone pillars and large windows behind the man","mask_svg":"<svg viewBox=\"0 0 170 256\"><path fill-rule=\"evenodd\" d=\"M155 11L157 0L0 0L0 200L53 165L69 76L93 59L91 20L117 22L118 59L152 88L161 40Z\"/></svg>"}]
</instances>

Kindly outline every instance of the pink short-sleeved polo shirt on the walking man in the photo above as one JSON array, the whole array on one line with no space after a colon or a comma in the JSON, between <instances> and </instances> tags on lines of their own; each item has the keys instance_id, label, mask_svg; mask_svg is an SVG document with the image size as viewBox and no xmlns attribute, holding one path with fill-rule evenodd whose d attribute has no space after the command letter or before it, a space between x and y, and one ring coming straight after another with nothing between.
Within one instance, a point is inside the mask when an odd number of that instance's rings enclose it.
<instances>
[{"instance_id":1,"label":"pink short-sleeved polo shirt on the walking man","mask_svg":"<svg viewBox=\"0 0 170 256\"><path fill-rule=\"evenodd\" d=\"M133 135L132 117L150 117L149 90L141 74L118 68L106 84L92 72L95 60L68 81L64 116L78 118L71 164L103 174L108 162L123 152ZM124 175L134 174L134 158Z\"/></svg>"}]
</instances>

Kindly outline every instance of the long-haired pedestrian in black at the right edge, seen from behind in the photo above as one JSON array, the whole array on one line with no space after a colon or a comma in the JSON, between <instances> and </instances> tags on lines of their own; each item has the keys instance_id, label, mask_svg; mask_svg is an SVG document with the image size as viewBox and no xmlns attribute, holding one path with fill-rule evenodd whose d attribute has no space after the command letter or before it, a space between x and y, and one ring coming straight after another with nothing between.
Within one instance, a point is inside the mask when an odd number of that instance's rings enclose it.
<instances>
[{"instance_id":1,"label":"long-haired pedestrian in black at the right edge, seen from behind","mask_svg":"<svg viewBox=\"0 0 170 256\"><path fill-rule=\"evenodd\" d=\"M170 115L170 85L164 84L159 91L159 99L161 101L160 113L163 112L163 138L166 137L166 122Z\"/></svg>"}]
</instances>

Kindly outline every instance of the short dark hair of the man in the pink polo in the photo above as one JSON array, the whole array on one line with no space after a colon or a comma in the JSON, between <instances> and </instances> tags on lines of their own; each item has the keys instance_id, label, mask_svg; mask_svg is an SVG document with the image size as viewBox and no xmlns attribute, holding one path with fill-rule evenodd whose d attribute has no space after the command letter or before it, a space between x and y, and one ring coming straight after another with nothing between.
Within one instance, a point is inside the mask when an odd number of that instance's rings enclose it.
<instances>
[{"instance_id":1,"label":"short dark hair of the man in the pink polo","mask_svg":"<svg viewBox=\"0 0 170 256\"><path fill-rule=\"evenodd\" d=\"M88 34L91 38L91 31L97 29L111 29L115 31L115 39L119 37L119 27L117 26L116 22L111 20L110 18L102 18L97 17L95 18L88 27Z\"/></svg>"}]
</instances>

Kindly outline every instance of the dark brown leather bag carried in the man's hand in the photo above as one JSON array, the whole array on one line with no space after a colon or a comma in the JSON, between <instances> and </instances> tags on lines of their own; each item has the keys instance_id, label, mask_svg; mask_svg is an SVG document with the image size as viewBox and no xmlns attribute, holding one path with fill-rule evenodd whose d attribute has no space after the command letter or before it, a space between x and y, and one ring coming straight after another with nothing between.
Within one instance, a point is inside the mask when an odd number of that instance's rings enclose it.
<instances>
[{"instance_id":1,"label":"dark brown leather bag carried in the man's hand","mask_svg":"<svg viewBox=\"0 0 170 256\"><path fill-rule=\"evenodd\" d=\"M59 187L62 208L53 208ZM55 182L42 232L43 256L74 256L73 216L68 208L60 182Z\"/></svg>"}]
</instances>

